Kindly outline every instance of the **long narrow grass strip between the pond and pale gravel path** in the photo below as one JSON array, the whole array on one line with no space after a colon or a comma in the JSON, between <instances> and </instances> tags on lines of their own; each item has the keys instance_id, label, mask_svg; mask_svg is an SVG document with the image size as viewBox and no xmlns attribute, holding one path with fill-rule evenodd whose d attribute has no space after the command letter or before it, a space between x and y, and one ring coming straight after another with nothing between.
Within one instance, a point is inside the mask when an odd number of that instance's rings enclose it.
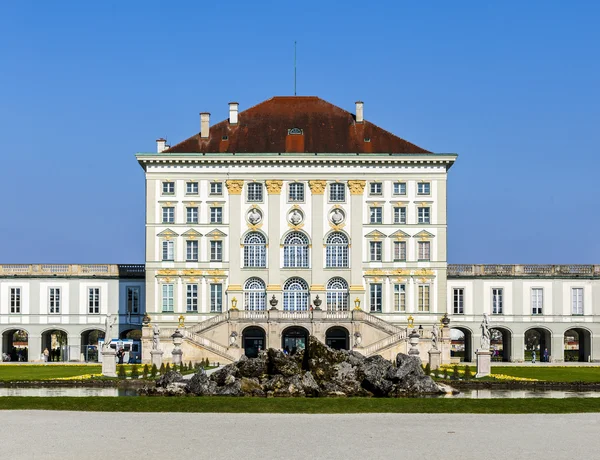
<instances>
[{"instance_id":1,"label":"long narrow grass strip between the pond and pale gravel path","mask_svg":"<svg viewBox=\"0 0 600 460\"><path fill-rule=\"evenodd\" d=\"M435 398L234 398L234 397L2 397L0 410L101 412L240 413L473 413L529 414L600 412L600 398L435 399Z\"/></svg>"}]
</instances>

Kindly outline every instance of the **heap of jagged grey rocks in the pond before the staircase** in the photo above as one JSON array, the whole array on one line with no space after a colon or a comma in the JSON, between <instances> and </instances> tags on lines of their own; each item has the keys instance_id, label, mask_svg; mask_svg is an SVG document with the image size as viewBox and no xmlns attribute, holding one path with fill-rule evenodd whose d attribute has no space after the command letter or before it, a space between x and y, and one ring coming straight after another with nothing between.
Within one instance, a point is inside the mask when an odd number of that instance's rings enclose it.
<instances>
[{"instance_id":1,"label":"heap of jagged grey rocks in the pond before the staircase","mask_svg":"<svg viewBox=\"0 0 600 460\"><path fill-rule=\"evenodd\" d=\"M376 396L441 394L415 356L399 353L392 363L354 351L333 350L314 337L294 356L270 348L257 358L242 356L210 377L200 369L190 380L168 372L145 395L197 396Z\"/></svg>"}]
</instances>

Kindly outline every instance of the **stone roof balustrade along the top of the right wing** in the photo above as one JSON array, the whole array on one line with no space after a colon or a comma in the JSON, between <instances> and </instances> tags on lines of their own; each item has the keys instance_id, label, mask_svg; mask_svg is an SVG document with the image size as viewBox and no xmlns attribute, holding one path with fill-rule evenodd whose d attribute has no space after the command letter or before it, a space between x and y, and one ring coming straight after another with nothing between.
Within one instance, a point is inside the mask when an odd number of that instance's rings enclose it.
<instances>
[{"instance_id":1,"label":"stone roof balustrade along the top of the right wing","mask_svg":"<svg viewBox=\"0 0 600 460\"><path fill-rule=\"evenodd\" d=\"M448 265L448 278L486 276L600 278L600 265Z\"/></svg>"}]
</instances>

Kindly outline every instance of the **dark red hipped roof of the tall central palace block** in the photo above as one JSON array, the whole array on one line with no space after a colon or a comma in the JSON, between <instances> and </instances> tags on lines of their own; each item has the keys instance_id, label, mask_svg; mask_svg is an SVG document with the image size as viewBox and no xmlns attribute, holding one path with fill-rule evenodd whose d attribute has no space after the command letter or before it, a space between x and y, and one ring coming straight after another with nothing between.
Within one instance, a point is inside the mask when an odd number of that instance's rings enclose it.
<instances>
[{"instance_id":1,"label":"dark red hipped roof of the tall central palace block","mask_svg":"<svg viewBox=\"0 0 600 460\"><path fill-rule=\"evenodd\" d=\"M198 133L165 152L431 153L315 96L273 97L240 112L236 125L223 120L208 138Z\"/></svg>"}]
</instances>

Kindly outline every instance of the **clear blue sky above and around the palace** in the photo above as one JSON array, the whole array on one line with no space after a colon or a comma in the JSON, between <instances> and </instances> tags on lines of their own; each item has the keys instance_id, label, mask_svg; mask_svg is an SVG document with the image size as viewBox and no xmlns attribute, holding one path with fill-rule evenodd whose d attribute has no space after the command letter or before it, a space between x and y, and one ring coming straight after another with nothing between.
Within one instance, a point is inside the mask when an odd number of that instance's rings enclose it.
<instances>
[{"instance_id":1,"label":"clear blue sky above and around the palace","mask_svg":"<svg viewBox=\"0 0 600 460\"><path fill-rule=\"evenodd\" d=\"M600 263L598 2L2 2L2 263L141 263L136 152L274 95L459 159L450 263Z\"/></svg>"}]
</instances>

